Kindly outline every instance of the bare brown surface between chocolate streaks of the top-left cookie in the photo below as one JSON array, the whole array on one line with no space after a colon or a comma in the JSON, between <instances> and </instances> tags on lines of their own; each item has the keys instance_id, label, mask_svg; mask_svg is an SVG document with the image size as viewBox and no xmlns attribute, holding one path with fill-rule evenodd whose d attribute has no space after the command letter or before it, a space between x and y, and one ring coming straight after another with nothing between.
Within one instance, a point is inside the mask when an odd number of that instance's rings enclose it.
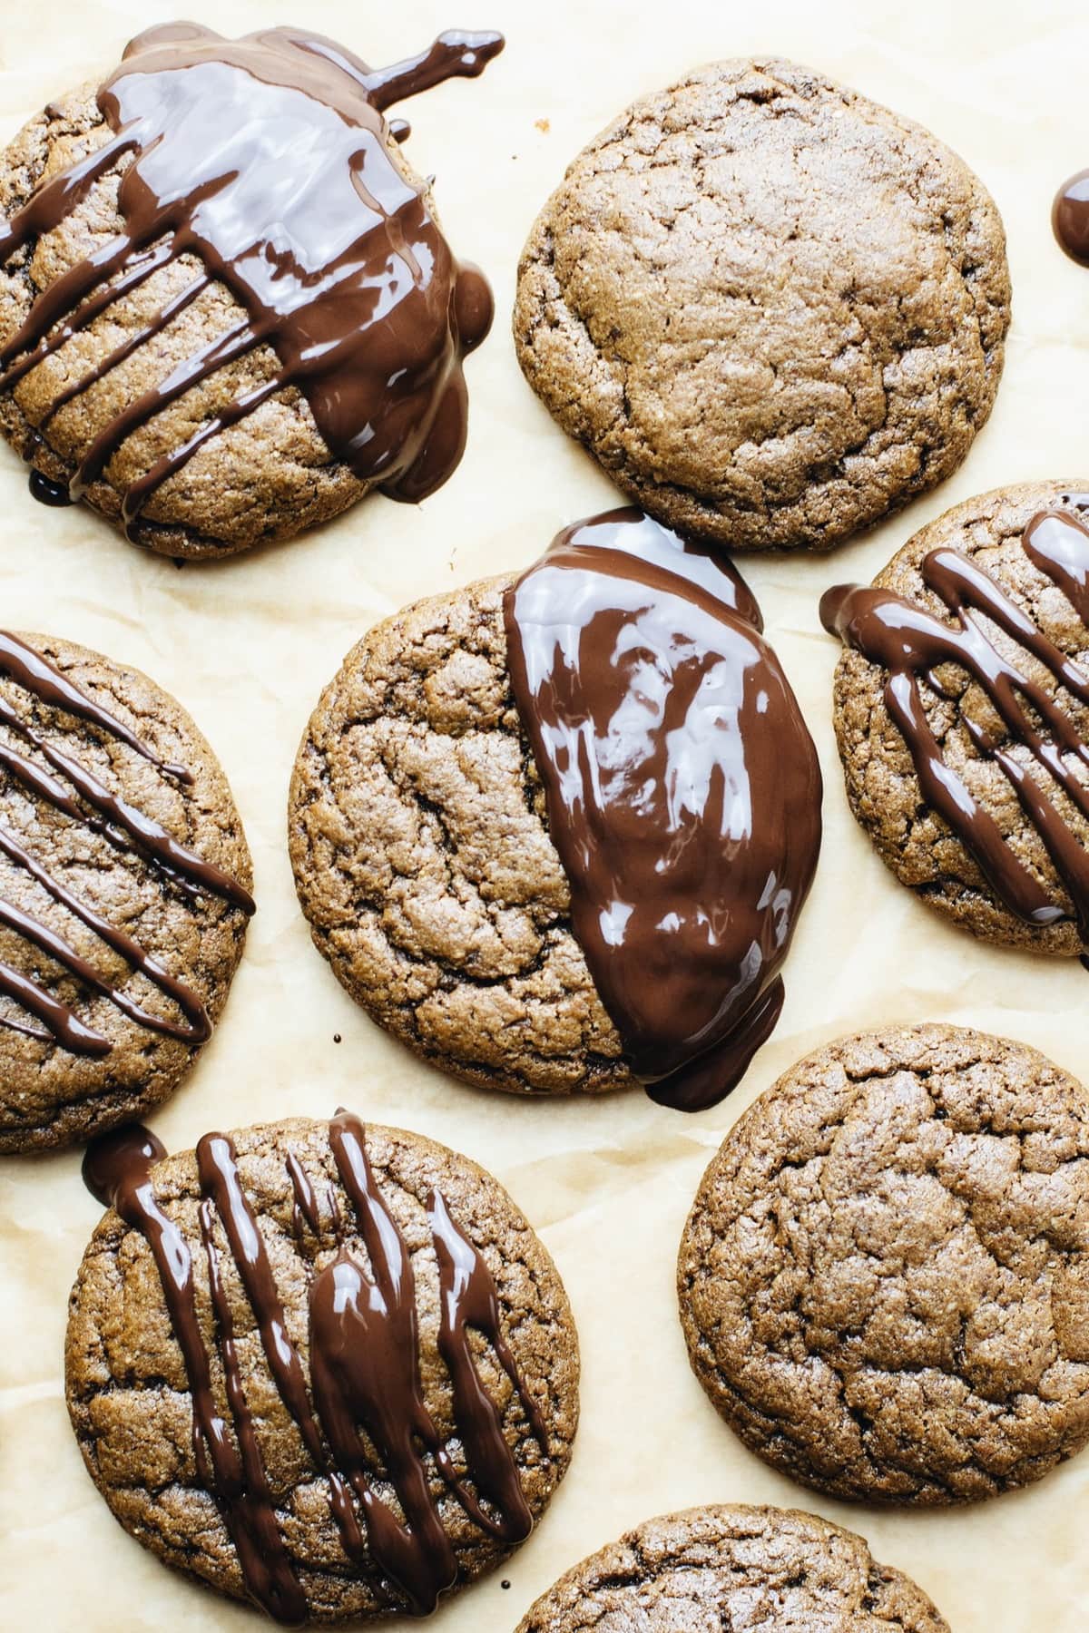
<instances>
[{"instance_id":1,"label":"bare brown surface between chocolate streaks of the top-left cookie","mask_svg":"<svg viewBox=\"0 0 1089 1633\"><path fill-rule=\"evenodd\" d=\"M96 87L83 85L52 103L0 155L3 214L11 216L34 186L106 144L111 132L95 91ZM0 266L0 341L10 340L24 322L41 289L78 265L90 248L121 232L118 186L118 171L103 176L31 253L21 251L7 268ZM137 346L98 385L64 407L51 420L46 443L39 443L36 426L77 372L98 367L201 273L194 255L181 255L121 296L60 353L33 369L13 390L0 394L0 434L46 477L67 483L95 436L126 405L245 317L230 291L212 283L170 322L153 346ZM211 420L232 398L271 380L278 367L271 348L260 346L189 390L121 444L103 478L88 488L88 505L121 526L124 492L160 456L178 447L194 423ZM330 461L305 398L287 387L248 420L227 428L170 478L132 527L132 537L163 555L233 555L328 521L366 492L346 465Z\"/></svg>"}]
</instances>

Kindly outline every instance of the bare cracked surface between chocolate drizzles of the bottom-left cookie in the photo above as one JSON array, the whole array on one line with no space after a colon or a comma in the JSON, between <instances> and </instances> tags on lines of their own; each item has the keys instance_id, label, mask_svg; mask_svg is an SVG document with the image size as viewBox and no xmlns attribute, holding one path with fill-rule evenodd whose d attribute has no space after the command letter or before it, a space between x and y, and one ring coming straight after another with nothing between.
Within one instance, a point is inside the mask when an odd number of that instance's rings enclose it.
<instances>
[{"instance_id":1,"label":"bare cracked surface between chocolate drizzles of the bottom-left cookie","mask_svg":"<svg viewBox=\"0 0 1089 1633\"><path fill-rule=\"evenodd\" d=\"M371 1264L354 1204L338 1176L327 1124L291 1119L247 1128L232 1140L240 1186L256 1217L282 1303L284 1331L297 1350L310 1399L315 1399L310 1288L341 1249L353 1262ZM501 1331L544 1419L549 1460L496 1352L475 1329L470 1333L473 1365L496 1404L524 1499L539 1519L568 1466L578 1422L578 1341L555 1266L498 1181L469 1158L420 1135L382 1127L367 1127L366 1151L377 1194L411 1262L421 1398L449 1445L460 1479L465 1475L451 1377L439 1352L439 1266L428 1220L433 1190L442 1194L457 1230L487 1262ZM300 1223L294 1208L289 1158L310 1182L317 1231ZM225 1393L222 1336L212 1316L207 1259L201 1249L201 1182L194 1153L158 1163L152 1169L152 1186L158 1205L189 1244L196 1310L212 1359L214 1404L233 1439L237 1419ZM328 1479L313 1466L273 1378L219 1215L212 1241L276 1524L310 1618L328 1623L389 1615L389 1600L376 1597L367 1561L353 1568L344 1556L330 1511ZM237 1550L198 1476L189 1383L158 1270L144 1236L113 1210L95 1231L72 1292L65 1373L69 1413L83 1460L116 1519L167 1564L224 1594L245 1597ZM509 1545L467 1517L431 1453L421 1453L421 1462L462 1586L491 1569L509 1553ZM371 1440L366 1442L364 1473L377 1497L393 1502L387 1470Z\"/></svg>"}]
</instances>

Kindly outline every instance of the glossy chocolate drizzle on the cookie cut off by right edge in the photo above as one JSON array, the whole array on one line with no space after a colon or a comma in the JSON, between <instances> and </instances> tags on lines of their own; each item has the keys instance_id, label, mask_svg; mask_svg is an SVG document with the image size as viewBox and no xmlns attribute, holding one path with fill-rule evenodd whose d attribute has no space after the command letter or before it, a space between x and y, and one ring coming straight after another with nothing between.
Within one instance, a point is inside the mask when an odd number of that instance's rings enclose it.
<instances>
[{"instance_id":1,"label":"glossy chocolate drizzle on the cookie cut off by right edge","mask_svg":"<svg viewBox=\"0 0 1089 1633\"><path fill-rule=\"evenodd\" d=\"M1033 567L1063 591L1086 624L1089 527L1068 511L1043 511L1025 527L1022 545ZM999 652L980 614L1082 705L1089 705L1089 670L1048 640L1001 585L962 552L932 550L921 572L955 624L891 590L841 585L821 601L825 629L888 671L885 705L911 751L922 797L975 857L999 900L1027 924L1076 923L1082 947L1089 949L1089 852L1060 807L1009 746L960 712L976 753L994 761L1014 789L1073 911L1017 859L994 818L949 768L922 704L922 687L949 701L950 692L936 673L942 665L962 668L991 701L1009 743L1027 750L1047 779L1089 818L1089 741L1068 709Z\"/></svg>"}]
</instances>

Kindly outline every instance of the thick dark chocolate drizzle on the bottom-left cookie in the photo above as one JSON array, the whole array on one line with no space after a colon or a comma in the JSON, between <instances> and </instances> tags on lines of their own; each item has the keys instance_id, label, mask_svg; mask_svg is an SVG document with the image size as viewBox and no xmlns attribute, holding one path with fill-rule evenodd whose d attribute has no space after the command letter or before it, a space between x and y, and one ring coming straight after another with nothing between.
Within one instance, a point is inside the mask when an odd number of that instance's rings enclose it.
<instances>
[{"instance_id":1,"label":"thick dark chocolate drizzle on the bottom-left cookie","mask_svg":"<svg viewBox=\"0 0 1089 1633\"><path fill-rule=\"evenodd\" d=\"M362 1124L341 1110L330 1122L328 1138L351 1205L348 1225L336 1187L328 1186L323 1213L320 1190L299 1156L294 1151L287 1156L296 1231L309 1231L313 1246L325 1249L317 1253L322 1267L310 1282L309 1380L235 1146L220 1133L204 1135L198 1143L201 1251L229 1422L212 1390L212 1357L198 1315L194 1248L155 1197L152 1169L163 1155L160 1143L145 1128L126 1128L95 1141L83 1161L88 1189L139 1230L152 1249L189 1382L198 1476L216 1497L250 1595L286 1626L307 1622L307 1595L299 1581L300 1561L292 1558L278 1522L261 1457L235 1347L220 1239L253 1310L273 1382L313 1468L327 1481L344 1555L390 1610L429 1615L457 1579L457 1558L439 1511L441 1491L503 1543L513 1546L532 1528L498 1406L477 1372L470 1333L491 1347L521 1401L529 1432L549 1457L544 1419L503 1334L491 1272L451 1217L441 1192L431 1190L426 1210L439 1274L438 1347L451 1378L465 1468L459 1473L424 1403L413 1262L376 1182ZM392 1486L395 1507L377 1489L376 1476Z\"/></svg>"}]
</instances>

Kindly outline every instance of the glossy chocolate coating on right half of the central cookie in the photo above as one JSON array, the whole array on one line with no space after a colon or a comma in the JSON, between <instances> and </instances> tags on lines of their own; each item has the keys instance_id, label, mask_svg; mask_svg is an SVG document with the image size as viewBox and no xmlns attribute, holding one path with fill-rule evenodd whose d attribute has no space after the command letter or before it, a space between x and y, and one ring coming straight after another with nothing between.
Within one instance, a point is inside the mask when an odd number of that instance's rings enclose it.
<instances>
[{"instance_id":1,"label":"glossy chocolate coating on right half of the central cookie","mask_svg":"<svg viewBox=\"0 0 1089 1633\"><path fill-rule=\"evenodd\" d=\"M805 722L743 580L638 511L562 532L504 617L594 985L651 1097L700 1110L782 1008L821 833Z\"/></svg>"}]
</instances>

